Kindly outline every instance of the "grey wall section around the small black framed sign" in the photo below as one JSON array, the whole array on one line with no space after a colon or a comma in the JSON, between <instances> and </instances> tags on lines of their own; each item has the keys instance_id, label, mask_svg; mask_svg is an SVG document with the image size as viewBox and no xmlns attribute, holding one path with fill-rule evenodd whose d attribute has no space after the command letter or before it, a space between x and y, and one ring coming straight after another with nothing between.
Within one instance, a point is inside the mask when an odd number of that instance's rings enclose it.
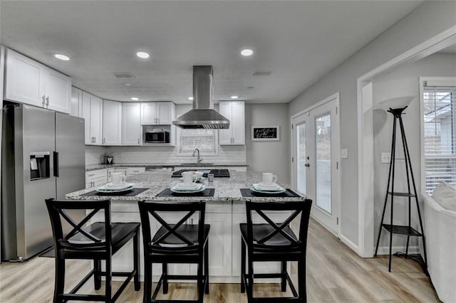
<instances>
[{"instance_id":1,"label":"grey wall section around the small black framed sign","mask_svg":"<svg viewBox=\"0 0 456 303\"><path fill-rule=\"evenodd\" d=\"M280 141L252 142L252 125L279 125ZM289 119L287 104L247 104L245 143L250 171L272 172L289 184Z\"/></svg>"}]
</instances>

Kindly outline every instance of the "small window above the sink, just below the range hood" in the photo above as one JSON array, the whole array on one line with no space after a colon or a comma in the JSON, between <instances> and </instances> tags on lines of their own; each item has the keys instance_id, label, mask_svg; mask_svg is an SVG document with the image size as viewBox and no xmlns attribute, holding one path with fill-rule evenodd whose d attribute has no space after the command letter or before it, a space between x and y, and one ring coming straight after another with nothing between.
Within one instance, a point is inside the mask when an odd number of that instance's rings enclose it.
<instances>
[{"instance_id":1,"label":"small window above the sink, just below the range hood","mask_svg":"<svg viewBox=\"0 0 456 303\"><path fill-rule=\"evenodd\" d=\"M217 129L177 128L177 155L192 156L195 149L200 155L215 156L219 152Z\"/></svg>"}]
</instances>

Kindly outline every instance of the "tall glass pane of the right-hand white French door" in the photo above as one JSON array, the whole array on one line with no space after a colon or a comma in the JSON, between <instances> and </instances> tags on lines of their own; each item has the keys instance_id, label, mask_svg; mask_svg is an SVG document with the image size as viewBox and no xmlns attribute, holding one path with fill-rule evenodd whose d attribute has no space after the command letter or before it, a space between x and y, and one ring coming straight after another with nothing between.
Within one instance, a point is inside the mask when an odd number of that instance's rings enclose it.
<instances>
[{"instance_id":1,"label":"tall glass pane of the right-hand white French door","mask_svg":"<svg viewBox=\"0 0 456 303\"><path fill-rule=\"evenodd\" d=\"M316 205L331 213L331 114L315 119Z\"/></svg>"}]
</instances>

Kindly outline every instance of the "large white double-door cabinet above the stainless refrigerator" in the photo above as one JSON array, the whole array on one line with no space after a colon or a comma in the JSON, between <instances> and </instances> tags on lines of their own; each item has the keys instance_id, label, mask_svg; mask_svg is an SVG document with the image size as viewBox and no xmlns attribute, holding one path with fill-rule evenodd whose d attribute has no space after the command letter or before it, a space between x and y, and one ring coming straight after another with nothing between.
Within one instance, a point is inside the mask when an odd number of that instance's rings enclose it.
<instances>
[{"instance_id":1,"label":"large white double-door cabinet above the stainless refrigerator","mask_svg":"<svg viewBox=\"0 0 456 303\"><path fill-rule=\"evenodd\" d=\"M6 100L70 113L71 78L6 50Z\"/></svg>"}]
</instances>

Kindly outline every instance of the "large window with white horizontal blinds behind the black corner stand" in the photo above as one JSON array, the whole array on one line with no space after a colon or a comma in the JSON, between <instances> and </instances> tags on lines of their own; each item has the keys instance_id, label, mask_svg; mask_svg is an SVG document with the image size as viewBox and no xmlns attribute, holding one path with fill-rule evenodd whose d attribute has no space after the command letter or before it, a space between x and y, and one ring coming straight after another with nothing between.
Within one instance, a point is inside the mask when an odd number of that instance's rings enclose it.
<instances>
[{"instance_id":1,"label":"large window with white horizontal blinds behind the black corner stand","mask_svg":"<svg viewBox=\"0 0 456 303\"><path fill-rule=\"evenodd\" d=\"M452 85L455 83L455 85ZM456 184L456 78L423 81L425 191Z\"/></svg>"}]
</instances>

